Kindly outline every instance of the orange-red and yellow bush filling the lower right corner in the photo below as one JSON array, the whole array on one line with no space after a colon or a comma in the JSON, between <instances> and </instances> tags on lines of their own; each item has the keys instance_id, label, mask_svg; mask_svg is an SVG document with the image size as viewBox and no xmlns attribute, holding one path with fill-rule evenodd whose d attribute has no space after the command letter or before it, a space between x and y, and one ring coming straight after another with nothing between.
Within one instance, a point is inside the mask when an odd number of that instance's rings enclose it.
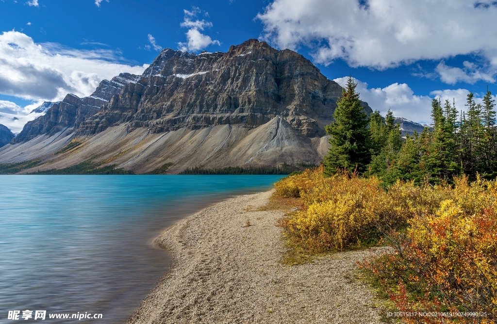
<instances>
[{"instance_id":1,"label":"orange-red and yellow bush filling the lower right corner","mask_svg":"<svg viewBox=\"0 0 497 324\"><path fill-rule=\"evenodd\" d=\"M426 186L428 188L428 186ZM466 177L432 197L445 197L435 210L426 208L391 238L393 254L364 266L392 288L401 311L466 312L479 316L444 318L444 323L494 323L497 314L496 181ZM441 323L406 318L407 323Z\"/></svg>"}]
</instances>

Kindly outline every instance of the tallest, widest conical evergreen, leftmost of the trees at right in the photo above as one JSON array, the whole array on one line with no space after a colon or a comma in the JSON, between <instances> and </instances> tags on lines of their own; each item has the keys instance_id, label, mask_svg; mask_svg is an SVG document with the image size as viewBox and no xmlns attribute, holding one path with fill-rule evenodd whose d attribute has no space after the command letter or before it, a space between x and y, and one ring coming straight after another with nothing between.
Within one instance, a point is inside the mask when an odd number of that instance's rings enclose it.
<instances>
[{"instance_id":1,"label":"tallest, widest conical evergreen, leftmost of the trees at right","mask_svg":"<svg viewBox=\"0 0 497 324\"><path fill-rule=\"evenodd\" d=\"M331 135L331 148L324 159L326 176L339 169L353 171L357 168L363 173L371 161L368 117L361 106L359 93L355 92L356 86L357 83L348 78L342 98L336 104L334 121L326 126L326 132Z\"/></svg>"}]
</instances>

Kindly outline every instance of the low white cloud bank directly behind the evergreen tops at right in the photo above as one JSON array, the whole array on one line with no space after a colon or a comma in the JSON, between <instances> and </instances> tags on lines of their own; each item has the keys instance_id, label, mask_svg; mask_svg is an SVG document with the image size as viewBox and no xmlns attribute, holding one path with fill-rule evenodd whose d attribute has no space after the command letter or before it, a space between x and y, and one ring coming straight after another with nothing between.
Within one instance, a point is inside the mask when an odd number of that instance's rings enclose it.
<instances>
[{"instance_id":1,"label":"low white cloud bank directly behind the evergreen tops at right","mask_svg":"<svg viewBox=\"0 0 497 324\"><path fill-rule=\"evenodd\" d=\"M339 85L347 83L348 77L334 79ZM442 105L448 99L454 101L458 110L466 111L467 89L443 89L430 92L427 95L415 95L413 89L406 83L392 83L384 88L368 88L366 82L354 79L357 83L356 91L360 93L360 98L366 101L373 110L379 110L385 116L388 109L391 109L396 117L404 117L416 123L431 123L431 100L440 98ZM475 93L475 102L483 103L483 93ZM497 99L496 96L494 96Z\"/></svg>"}]
</instances>

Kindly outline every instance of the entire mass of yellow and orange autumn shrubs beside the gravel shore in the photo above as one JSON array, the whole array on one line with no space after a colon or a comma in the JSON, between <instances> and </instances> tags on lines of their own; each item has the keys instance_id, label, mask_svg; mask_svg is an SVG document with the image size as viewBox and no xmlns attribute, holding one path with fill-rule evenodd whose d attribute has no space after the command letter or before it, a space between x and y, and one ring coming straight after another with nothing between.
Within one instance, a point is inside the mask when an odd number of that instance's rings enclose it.
<instances>
[{"instance_id":1,"label":"entire mass of yellow and orange autumn shrubs beside the gravel shore","mask_svg":"<svg viewBox=\"0 0 497 324\"><path fill-rule=\"evenodd\" d=\"M497 181L470 183L462 176L454 187L398 181L384 190L375 177L325 178L318 168L276 186L280 195L302 198L302 208L279 224L288 239L309 252L387 239L394 252L364 266L388 287L399 310L479 312L485 316L444 318L443 323L495 322Z\"/></svg>"}]
</instances>

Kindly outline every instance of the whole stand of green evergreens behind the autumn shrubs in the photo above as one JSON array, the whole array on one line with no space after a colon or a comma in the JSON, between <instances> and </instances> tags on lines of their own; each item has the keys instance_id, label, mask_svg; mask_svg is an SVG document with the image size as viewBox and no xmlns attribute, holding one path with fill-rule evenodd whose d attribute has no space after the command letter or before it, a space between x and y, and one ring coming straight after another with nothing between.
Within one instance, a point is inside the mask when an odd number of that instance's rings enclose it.
<instances>
[{"instance_id":1,"label":"whole stand of green evergreens behind the autumn shrubs","mask_svg":"<svg viewBox=\"0 0 497 324\"><path fill-rule=\"evenodd\" d=\"M431 129L401 137L391 111L383 118L375 111L369 118L360 107L356 84L349 80L335 110L335 122L327 126L331 149L325 157L325 174L338 169L379 176L384 185L397 179L431 184L453 183L466 174L471 180L497 176L495 100L487 90L483 104L467 96L467 112L455 102L431 103ZM352 119L353 121L348 121Z\"/></svg>"}]
</instances>

